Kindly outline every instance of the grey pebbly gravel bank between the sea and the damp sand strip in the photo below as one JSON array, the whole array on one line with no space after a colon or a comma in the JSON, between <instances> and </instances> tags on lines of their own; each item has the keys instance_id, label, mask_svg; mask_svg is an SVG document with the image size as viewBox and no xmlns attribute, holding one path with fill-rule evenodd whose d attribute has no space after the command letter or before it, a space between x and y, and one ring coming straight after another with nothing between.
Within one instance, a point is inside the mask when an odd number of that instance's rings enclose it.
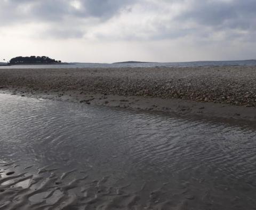
<instances>
[{"instance_id":1,"label":"grey pebbly gravel bank between the sea and the damp sand strip","mask_svg":"<svg viewBox=\"0 0 256 210\"><path fill-rule=\"evenodd\" d=\"M256 67L1 69L1 86L256 106Z\"/></svg>"}]
</instances>

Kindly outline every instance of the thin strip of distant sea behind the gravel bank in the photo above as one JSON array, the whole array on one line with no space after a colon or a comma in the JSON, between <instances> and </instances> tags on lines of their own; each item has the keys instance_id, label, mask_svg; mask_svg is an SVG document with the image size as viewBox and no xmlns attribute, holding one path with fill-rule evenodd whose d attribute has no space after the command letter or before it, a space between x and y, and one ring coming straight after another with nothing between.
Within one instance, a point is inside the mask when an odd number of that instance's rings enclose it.
<instances>
[{"instance_id":1,"label":"thin strip of distant sea behind the gravel bank","mask_svg":"<svg viewBox=\"0 0 256 210\"><path fill-rule=\"evenodd\" d=\"M4 68L122 68L122 67L208 67L208 66L256 66L256 60L243 61L195 61L170 63L78 63L61 65L17 65Z\"/></svg>"}]
</instances>

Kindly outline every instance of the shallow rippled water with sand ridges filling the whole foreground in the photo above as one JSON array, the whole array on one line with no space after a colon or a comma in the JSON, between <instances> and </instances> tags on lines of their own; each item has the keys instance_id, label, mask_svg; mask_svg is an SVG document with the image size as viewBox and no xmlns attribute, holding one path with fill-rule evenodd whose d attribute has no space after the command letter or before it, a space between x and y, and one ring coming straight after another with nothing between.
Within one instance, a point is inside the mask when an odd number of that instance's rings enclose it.
<instances>
[{"instance_id":1,"label":"shallow rippled water with sand ridges filling the whole foreground","mask_svg":"<svg viewBox=\"0 0 256 210\"><path fill-rule=\"evenodd\" d=\"M255 209L250 125L5 94L0 116L0 209Z\"/></svg>"}]
</instances>

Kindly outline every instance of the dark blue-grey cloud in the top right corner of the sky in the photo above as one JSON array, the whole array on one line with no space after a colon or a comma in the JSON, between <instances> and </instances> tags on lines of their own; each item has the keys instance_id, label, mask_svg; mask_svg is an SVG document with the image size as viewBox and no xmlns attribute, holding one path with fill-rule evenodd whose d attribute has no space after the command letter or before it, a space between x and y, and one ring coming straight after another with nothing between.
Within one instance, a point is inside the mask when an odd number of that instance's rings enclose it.
<instances>
[{"instance_id":1,"label":"dark blue-grey cloud in the top right corner of the sky","mask_svg":"<svg viewBox=\"0 0 256 210\"><path fill-rule=\"evenodd\" d=\"M245 1L195 1L193 7L178 15L178 20L194 20L205 26L250 28L255 25L256 2Z\"/></svg>"}]
</instances>

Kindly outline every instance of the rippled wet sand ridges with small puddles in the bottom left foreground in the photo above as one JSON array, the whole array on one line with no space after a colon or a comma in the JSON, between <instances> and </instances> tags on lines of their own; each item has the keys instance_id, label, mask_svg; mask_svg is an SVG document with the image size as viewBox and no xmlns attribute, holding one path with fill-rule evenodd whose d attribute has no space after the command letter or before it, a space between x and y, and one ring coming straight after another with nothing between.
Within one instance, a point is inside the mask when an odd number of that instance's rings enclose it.
<instances>
[{"instance_id":1,"label":"rippled wet sand ridges with small puddles in the bottom left foreground","mask_svg":"<svg viewBox=\"0 0 256 210\"><path fill-rule=\"evenodd\" d=\"M146 195L145 183L137 188L129 183L109 187L108 177L92 181L77 169L62 175L55 174L58 168L51 166L38 168L37 173L26 173L27 169L17 172L12 163L1 167L0 209L187 209L188 202L195 199L187 193L186 184L175 191L179 199L171 201L166 199L170 197L169 183ZM75 172L82 176L68 179ZM146 196L147 201L143 200Z\"/></svg>"}]
</instances>

